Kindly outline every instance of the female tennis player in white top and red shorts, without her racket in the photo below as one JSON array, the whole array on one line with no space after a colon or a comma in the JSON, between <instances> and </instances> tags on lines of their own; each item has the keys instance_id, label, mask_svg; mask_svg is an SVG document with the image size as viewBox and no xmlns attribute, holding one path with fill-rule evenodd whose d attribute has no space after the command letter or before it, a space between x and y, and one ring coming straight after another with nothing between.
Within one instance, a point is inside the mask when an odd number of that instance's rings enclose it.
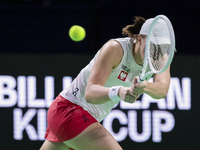
<instances>
[{"instance_id":1,"label":"female tennis player in white top and red shorts, without her racket","mask_svg":"<svg viewBox=\"0 0 200 150\"><path fill-rule=\"evenodd\" d=\"M144 59L149 24L135 17L97 52L71 85L51 104L45 142L40 150L122 150L99 123L123 100L134 103L142 93L155 99L167 95L170 69L153 75L153 83L137 83ZM158 29L159 31L159 29Z\"/></svg>"}]
</instances>

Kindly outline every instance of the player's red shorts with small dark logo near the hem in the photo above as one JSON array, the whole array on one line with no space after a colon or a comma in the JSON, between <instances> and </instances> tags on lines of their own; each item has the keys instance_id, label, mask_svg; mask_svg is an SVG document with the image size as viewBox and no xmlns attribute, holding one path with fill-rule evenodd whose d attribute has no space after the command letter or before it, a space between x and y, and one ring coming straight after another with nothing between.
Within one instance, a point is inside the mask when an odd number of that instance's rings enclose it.
<instances>
[{"instance_id":1,"label":"player's red shorts with small dark logo near the hem","mask_svg":"<svg viewBox=\"0 0 200 150\"><path fill-rule=\"evenodd\" d=\"M52 142L70 140L80 134L97 120L84 110L62 96L56 97L47 114L48 127L45 138Z\"/></svg>"}]
</instances>

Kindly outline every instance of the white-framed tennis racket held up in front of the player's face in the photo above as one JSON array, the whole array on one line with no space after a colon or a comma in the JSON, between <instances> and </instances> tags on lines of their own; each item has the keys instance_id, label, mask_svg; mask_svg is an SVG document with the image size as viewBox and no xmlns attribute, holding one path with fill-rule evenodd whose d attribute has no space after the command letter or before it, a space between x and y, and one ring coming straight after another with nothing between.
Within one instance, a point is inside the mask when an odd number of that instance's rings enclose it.
<instances>
[{"instance_id":1,"label":"white-framed tennis racket held up in front of the player's face","mask_svg":"<svg viewBox=\"0 0 200 150\"><path fill-rule=\"evenodd\" d=\"M159 28L159 24L160 26ZM150 24L145 43L143 67L138 83L149 80L153 74L164 72L172 62L175 52L175 35L170 20L156 16Z\"/></svg>"}]
</instances>

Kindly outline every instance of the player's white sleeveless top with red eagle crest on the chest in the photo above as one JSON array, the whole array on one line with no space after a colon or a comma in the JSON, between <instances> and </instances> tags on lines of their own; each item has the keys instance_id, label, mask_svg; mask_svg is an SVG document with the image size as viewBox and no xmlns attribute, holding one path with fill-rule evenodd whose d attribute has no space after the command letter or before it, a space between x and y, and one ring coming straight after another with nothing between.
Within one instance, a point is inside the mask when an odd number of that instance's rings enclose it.
<instances>
[{"instance_id":1,"label":"player's white sleeveless top with red eagle crest on the chest","mask_svg":"<svg viewBox=\"0 0 200 150\"><path fill-rule=\"evenodd\" d=\"M121 85L124 87L131 87L133 78L139 76L142 69L142 66L139 66L135 62L132 54L133 39L127 37L115 40L121 44L124 50L124 55L119 66L112 70L112 73L104 86L111 87ZM100 50L90 63L81 70L71 85L60 93L62 97L88 111L99 122L109 114L115 104L119 103L119 101L109 101L103 104L90 104L87 103L85 99L85 88L90 71L99 55Z\"/></svg>"}]
</instances>

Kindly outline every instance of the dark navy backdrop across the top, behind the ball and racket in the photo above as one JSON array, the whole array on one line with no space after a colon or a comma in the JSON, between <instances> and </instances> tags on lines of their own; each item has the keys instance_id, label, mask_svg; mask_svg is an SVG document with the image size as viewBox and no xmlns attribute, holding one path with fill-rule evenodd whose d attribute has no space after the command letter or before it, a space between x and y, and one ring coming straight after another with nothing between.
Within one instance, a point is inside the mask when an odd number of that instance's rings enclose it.
<instances>
[{"instance_id":1,"label":"dark navy backdrop across the top, behind the ball and racket","mask_svg":"<svg viewBox=\"0 0 200 150\"><path fill-rule=\"evenodd\" d=\"M146 19L164 14L172 22L177 54L197 55L199 4L196 0L1 0L1 53L94 54L134 16ZM86 29L86 38L73 42L72 25Z\"/></svg>"}]
</instances>

